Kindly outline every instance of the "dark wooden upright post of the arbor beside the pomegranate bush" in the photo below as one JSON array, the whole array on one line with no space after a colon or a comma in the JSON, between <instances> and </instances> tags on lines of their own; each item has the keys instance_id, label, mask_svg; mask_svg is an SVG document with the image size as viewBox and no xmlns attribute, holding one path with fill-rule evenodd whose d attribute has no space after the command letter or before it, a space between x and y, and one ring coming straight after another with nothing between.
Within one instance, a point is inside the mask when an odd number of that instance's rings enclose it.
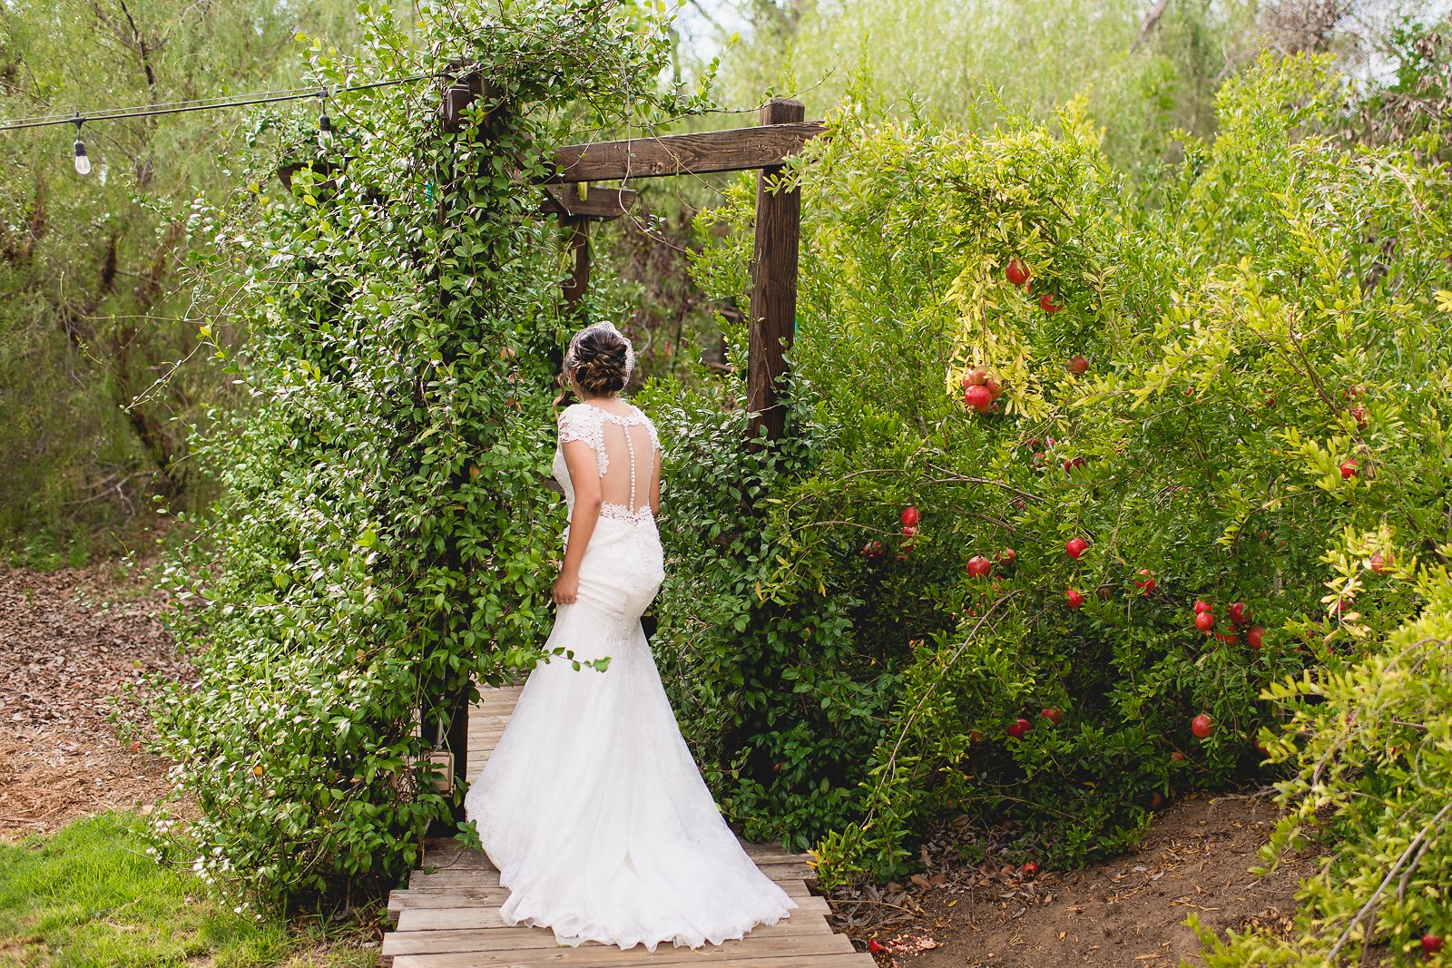
<instances>
[{"instance_id":1,"label":"dark wooden upright post of the arbor beside the pomegranate bush","mask_svg":"<svg viewBox=\"0 0 1452 968\"><path fill-rule=\"evenodd\" d=\"M778 97L761 109L762 125L800 123L802 102ZM802 235L802 192L771 192L770 183L783 165L768 165L756 174L756 239L751 263L751 344L746 356L746 409L751 411L751 446L765 428L768 440L786 431L786 408L780 393L787 376L786 353L797 335L797 248Z\"/></svg>"}]
</instances>

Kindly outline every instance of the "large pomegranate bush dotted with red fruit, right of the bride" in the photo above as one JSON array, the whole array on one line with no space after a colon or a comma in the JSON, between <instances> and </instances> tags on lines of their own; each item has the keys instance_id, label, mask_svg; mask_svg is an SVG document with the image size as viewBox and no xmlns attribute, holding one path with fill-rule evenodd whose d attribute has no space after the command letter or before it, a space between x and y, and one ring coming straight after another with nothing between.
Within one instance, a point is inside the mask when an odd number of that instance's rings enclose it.
<instances>
[{"instance_id":1,"label":"large pomegranate bush dotted with red fruit, right of the bride","mask_svg":"<svg viewBox=\"0 0 1452 968\"><path fill-rule=\"evenodd\" d=\"M852 91L793 168L793 443L765 460L733 443L739 387L714 390L725 417L711 393L652 390L672 695L727 810L817 842L825 884L900 875L958 813L1079 864L1159 798L1256 775L1282 715L1266 685L1346 668L1419 607L1326 556L1445 537L1446 173L1337 141L1324 60L1231 81L1159 205L1082 104L1056 131L980 135L873 103ZM735 229L698 261L719 298L745 292L751 197L739 183L703 218ZM963 403L976 364L1005 385L995 412ZM966 575L973 556L990 578ZM1021 715L1032 730L1008 737Z\"/></svg>"}]
</instances>

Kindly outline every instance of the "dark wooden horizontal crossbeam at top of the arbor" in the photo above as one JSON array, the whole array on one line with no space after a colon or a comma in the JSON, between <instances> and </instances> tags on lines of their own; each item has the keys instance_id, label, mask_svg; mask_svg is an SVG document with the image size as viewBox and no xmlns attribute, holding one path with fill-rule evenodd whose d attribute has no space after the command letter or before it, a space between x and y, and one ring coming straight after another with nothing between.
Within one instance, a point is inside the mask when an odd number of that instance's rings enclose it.
<instances>
[{"instance_id":1,"label":"dark wooden horizontal crossbeam at top of the arbor","mask_svg":"<svg viewBox=\"0 0 1452 968\"><path fill-rule=\"evenodd\" d=\"M566 145L555 152L558 171L546 181L620 181L778 165L826 131L820 122L803 122L804 116L799 113L796 123Z\"/></svg>"}]
</instances>

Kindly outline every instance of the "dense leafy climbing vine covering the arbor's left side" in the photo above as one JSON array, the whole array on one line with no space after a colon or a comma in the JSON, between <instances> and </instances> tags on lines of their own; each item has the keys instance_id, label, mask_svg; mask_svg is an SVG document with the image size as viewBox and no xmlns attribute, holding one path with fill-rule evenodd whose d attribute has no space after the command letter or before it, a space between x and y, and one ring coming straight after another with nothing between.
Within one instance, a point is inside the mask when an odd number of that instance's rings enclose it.
<instances>
[{"instance_id":1,"label":"dense leafy climbing vine covering the arbor's left side","mask_svg":"<svg viewBox=\"0 0 1452 968\"><path fill-rule=\"evenodd\" d=\"M421 760L450 695L539 656L559 551L543 485L571 318L537 181L560 142L704 102L658 84L665 23L635 3L360 12L362 51L312 49L322 83L463 62L488 96L456 132L446 80L337 96L325 155L263 116L245 186L193 225L248 327L216 351L254 406L202 450L227 496L171 573L199 681L155 705L154 745L200 808L193 866L263 901L391 882L456 816ZM315 164L279 190L299 151Z\"/></svg>"}]
</instances>

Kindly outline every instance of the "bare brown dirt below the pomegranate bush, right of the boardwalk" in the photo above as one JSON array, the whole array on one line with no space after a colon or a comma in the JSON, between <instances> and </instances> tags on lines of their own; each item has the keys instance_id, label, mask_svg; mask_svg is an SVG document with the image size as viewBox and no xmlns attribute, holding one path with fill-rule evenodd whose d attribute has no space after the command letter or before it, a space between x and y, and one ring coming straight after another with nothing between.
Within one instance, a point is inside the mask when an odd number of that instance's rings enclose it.
<instances>
[{"instance_id":1,"label":"bare brown dirt below the pomegranate bush, right of the boardwalk","mask_svg":"<svg viewBox=\"0 0 1452 968\"><path fill-rule=\"evenodd\" d=\"M852 932L883 946L884 968L1170 968L1199 964L1185 919L1224 935L1250 924L1288 932L1295 890L1313 869L1292 859L1265 879L1259 864L1278 813L1262 797L1186 797L1160 813L1130 853L1083 871L939 871L886 901L912 922ZM889 885L899 887L899 885ZM903 895L903 897L899 897Z\"/></svg>"}]
</instances>

